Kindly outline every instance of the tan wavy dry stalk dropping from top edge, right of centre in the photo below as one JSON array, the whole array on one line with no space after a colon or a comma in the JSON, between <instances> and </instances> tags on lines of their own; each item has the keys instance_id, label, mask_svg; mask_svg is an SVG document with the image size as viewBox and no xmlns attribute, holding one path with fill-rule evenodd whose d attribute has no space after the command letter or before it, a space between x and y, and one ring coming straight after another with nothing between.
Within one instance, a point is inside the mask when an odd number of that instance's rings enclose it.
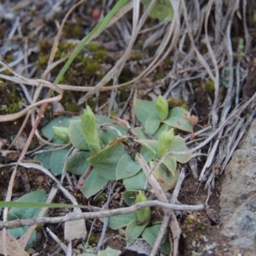
<instances>
[{"instance_id":1,"label":"tan wavy dry stalk dropping from top edge, right of centre","mask_svg":"<svg viewBox=\"0 0 256 256\"><path fill-rule=\"evenodd\" d=\"M214 102L212 105L212 109L211 109L211 115L212 115L212 127L216 127L216 125L218 124L218 113L217 113L217 107L218 107L218 100L219 100L219 84L220 84L220 73L219 73L219 68L218 68L218 63L217 60L214 56L214 52L212 50L212 46L209 40L209 36L208 36L208 20L209 20L209 15L211 13L211 7L212 7L212 3L213 0L209 0L208 4L207 4L207 8L206 8L206 12L205 12L205 20L204 20L204 29L205 29L205 42L206 42L206 46L209 52L209 55L211 57L211 61L214 67L214 72L215 72L215 76L214 76Z\"/></svg>"}]
</instances>

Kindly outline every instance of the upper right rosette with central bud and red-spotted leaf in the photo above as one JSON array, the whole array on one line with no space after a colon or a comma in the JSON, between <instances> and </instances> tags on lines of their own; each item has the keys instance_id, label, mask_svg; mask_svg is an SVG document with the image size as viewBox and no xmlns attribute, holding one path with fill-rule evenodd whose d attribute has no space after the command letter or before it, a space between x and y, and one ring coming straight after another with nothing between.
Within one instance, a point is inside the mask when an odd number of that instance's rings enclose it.
<instances>
[{"instance_id":1,"label":"upper right rosette with central bud and red-spotted leaf","mask_svg":"<svg viewBox=\"0 0 256 256\"><path fill-rule=\"evenodd\" d=\"M136 118L144 125L136 127L135 131L141 138L148 138L147 134L158 138L166 127L174 127L186 132L193 132L191 115L184 108L175 107L169 109L168 102L162 96L157 97L155 102L136 99L134 101Z\"/></svg>"}]
</instances>

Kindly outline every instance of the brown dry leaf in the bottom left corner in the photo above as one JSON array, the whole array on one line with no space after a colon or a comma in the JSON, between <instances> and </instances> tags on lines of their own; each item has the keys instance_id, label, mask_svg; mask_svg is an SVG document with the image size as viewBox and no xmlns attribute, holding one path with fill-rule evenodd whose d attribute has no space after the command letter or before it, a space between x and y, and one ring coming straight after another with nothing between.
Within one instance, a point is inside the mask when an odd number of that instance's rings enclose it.
<instances>
[{"instance_id":1,"label":"brown dry leaf in the bottom left corner","mask_svg":"<svg viewBox=\"0 0 256 256\"><path fill-rule=\"evenodd\" d=\"M29 256L19 245L16 239L6 232L6 250L9 256ZM3 231L0 230L0 253L4 254L3 249Z\"/></svg>"}]
</instances>

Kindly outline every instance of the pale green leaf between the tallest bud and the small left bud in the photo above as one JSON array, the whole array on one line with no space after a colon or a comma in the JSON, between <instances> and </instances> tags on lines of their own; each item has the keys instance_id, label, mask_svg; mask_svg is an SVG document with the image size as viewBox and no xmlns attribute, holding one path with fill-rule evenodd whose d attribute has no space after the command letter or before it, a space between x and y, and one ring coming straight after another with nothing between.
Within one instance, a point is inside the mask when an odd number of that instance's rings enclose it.
<instances>
[{"instance_id":1,"label":"pale green leaf between the tallest bud and the small left bud","mask_svg":"<svg viewBox=\"0 0 256 256\"><path fill-rule=\"evenodd\" d=\"M74 147L80 150L88 150L89 146L84 138L81 122L81 120L70 121L68 136Z\"/></svg>"}]
</instances>

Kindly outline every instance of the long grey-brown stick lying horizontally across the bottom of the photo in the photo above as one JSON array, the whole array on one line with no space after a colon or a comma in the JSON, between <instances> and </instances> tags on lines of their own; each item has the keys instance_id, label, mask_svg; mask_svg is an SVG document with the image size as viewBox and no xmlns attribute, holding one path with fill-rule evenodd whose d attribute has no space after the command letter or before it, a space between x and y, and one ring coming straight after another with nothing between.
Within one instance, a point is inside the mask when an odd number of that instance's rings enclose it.
<instances>
[{"instance_id":1,"label":"long grey-brown stick lying horizontally across the bottom of the photo","mask_svg":"<svg viewBox=\"0 0 256 256\"><path fill-rule=\"evenodd\" d=\"M12 227L22 227L22 226L31 226L35 224L43 223L63 223L66 221L72 220L81 220L81 219L100 219L116 215L130 214L136 212L145 207L162 207L163 209L175 210L175 211L201 211L204 209L204 205L174 205L169 203L159 202L158 200L150 200L147 202L134 204L129 207L112 209L109 211L97 211L97 212L81 212L79 214L68 214L61 217L42 217L42 218L33 218L30 220L14 220L14 221L3 221L0 223L1 228L12 228Z\"/></svg>"}]
</instances>

